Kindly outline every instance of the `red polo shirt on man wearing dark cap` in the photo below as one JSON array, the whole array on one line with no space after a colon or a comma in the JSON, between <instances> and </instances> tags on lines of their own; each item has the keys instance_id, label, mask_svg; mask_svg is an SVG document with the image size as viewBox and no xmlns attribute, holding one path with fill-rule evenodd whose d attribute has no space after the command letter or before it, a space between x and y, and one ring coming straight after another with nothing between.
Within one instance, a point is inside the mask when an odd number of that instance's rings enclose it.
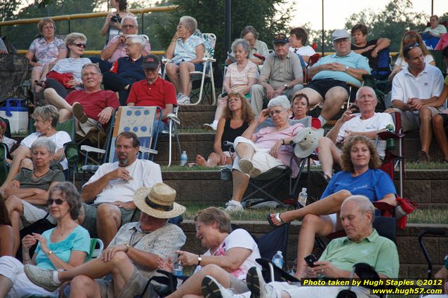
<instances>
[{"instance_id":1,"label":"red polo shirt on man wearing dark cap","mask_svg":"<svg viewBox=\"0 0 448 298\"><path fill-rule=\"evenodd\" d=\"M176 100L176 88L169 81L160 77L153 84L149 84L146 79L132 84L126 104L133 102L140 107L160 107L162 110L166 104L178 104Z\"/></svg>"}]
</instances>

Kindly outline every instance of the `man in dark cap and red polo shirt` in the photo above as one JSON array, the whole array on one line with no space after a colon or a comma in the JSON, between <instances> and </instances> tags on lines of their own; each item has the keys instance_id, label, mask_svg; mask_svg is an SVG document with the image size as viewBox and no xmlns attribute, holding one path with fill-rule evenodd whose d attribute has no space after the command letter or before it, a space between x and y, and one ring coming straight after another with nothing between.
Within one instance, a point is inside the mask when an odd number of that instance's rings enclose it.
<instances>
[{"instance_id":1,"label":"man in dark cap and red polo shirt","mask_svg":"<svg viewBox=\"0 0 448 298\"><path fill-rule=\"evenodd\" d=\"M176 88L169 81L159 76L160 59L156 55L143 57L143 71L146 79L132 84L126 104L128 106L160 107L162 109L162 122L154 122L154 127L159 124L159 133L168 130L168 118L166 115L173 113L173 107L177 106ZM159 115L157 115L158 117Z\"/></svg>"}]
</instances>

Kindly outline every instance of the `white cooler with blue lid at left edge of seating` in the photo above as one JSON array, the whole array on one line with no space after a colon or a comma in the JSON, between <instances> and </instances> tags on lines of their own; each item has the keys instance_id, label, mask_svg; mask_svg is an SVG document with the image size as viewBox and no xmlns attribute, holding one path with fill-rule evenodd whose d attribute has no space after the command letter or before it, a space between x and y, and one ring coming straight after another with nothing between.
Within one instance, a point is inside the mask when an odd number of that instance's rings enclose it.
<instances>
[{"instance_id":1,"label":"white cooler with blue lid at left edge of seating","mask_svg":"<svg viewBox=\"0 0 448 298\"><path fill-rule=\"evenodd\" d=\"M15 107L11 105L12 103L15 103ZM6 106L0 107L0 117L8 119L11 134L28 133L28 109L22 107L19 99L6 100Z\"/></svg>"}]
</instances>

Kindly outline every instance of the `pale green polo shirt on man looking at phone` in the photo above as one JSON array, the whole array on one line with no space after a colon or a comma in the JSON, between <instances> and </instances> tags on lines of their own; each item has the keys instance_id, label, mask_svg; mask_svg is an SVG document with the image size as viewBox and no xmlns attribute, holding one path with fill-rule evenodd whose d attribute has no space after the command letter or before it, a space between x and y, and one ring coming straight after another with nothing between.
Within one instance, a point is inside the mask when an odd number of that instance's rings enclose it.
<instances>
[{"instance_id":1,"label":"pale green polo shirt on man looking at phone","mask_svg":"<svg viewBox=\"0 0 448 298\"><path fill-rule=\"evenodd\" d=\"M359 242L350 241L347 237L332 240L319 260L331 262L336 268L347 271L351 271L354 264L367 263L389 278L397 278L400 267L395 243L379 236L375 229Z\"/></svg>"}]
</instances>

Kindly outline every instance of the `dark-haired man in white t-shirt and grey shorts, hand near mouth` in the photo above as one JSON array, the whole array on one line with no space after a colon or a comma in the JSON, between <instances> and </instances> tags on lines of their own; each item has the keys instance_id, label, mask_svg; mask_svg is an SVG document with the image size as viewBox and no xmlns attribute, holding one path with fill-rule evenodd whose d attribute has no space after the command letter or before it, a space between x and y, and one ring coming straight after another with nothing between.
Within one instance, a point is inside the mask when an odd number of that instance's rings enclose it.
<instances>
[{"instance_id":1,"label":"dark-haired man in white t-shirt and grey shorts, hand near mouth","mask_svg":"<svg viewBox=\"0 0 448 298\"><path fill-rule=\"evenodd\" d=\"M137 221L140 216L133 203L133 195L140 187L152 187L162 182L160 166L137 158L138 137L134 133L120 133L115 141L118 161L103 163L81 190L84 215L79 222L109 245L121 224ZM86 203L93 202L88 205Z\"/></svg>"}]
</instances>

